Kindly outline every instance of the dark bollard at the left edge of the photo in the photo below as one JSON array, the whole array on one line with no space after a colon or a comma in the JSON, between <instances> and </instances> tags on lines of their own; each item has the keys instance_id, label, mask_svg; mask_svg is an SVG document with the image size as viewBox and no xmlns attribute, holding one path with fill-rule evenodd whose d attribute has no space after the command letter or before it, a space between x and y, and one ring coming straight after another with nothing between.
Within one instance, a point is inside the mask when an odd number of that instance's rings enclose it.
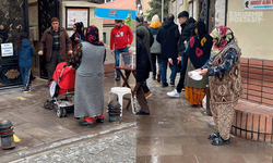
<instances>
[{"instance_id":1,"label":"dark bollard at the left edge of the photo","mask_svg":"<svg viewBox=\"0 0 273 163\"><path fill-rule=\"evenodd\" d=\"M12 126L13 125L9 120L2 120L0 122L0 137L3 150L12 149L15 147Z\"/></svg>"}]
</instances>

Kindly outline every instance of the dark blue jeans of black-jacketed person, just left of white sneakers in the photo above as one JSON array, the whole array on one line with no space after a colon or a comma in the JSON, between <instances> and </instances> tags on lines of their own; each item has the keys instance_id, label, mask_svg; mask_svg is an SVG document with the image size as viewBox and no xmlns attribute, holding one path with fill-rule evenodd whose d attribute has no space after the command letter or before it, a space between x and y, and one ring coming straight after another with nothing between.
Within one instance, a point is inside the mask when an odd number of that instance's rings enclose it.
<instances>
[{"instance_id":1,"label":"dark blue jeans of black-jacketed person, just left of white sneakers","mask_svg":"<svg viewBox=\"0 0 273 163\"><path fill-rule=\"evenodd\" d=\"M176 79L176 73L177 73L177 59L173 60L174 65L171 66L171 74L170 74L170 80ZM162 84L167 83L167 66L168 66L168 59L162 59Z\"/></svg>"}]
</instances>

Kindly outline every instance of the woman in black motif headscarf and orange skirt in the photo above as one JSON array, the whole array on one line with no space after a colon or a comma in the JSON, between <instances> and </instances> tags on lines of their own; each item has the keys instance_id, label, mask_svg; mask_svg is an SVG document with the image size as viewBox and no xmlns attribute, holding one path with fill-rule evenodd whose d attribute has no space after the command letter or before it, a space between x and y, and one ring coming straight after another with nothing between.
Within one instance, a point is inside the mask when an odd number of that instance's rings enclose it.
<instances>
[{"instance_id":1,"label":"woman in black motif headscarf and orange skirt","mask_svg":"<svg viewBox=\"0 0 273 163\"><path fill-rule=\"evenodd\" d=\"M202 100L205 96L209 76L205 75L201 80L194 80L189 77L188 72L202 67L210 59L212 49L212 37L206 34L205 24L199 21L194 28L195 36L190 38L188 47L189 59L185 77L185 98L192 106L202 106Z\"/></svg>"}]
</instances>

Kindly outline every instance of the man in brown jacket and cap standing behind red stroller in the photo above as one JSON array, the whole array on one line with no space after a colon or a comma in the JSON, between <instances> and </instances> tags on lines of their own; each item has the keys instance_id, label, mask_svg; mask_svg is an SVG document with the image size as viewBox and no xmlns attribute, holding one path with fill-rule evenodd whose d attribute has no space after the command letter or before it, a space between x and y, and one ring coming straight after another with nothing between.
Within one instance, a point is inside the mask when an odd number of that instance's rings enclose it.
<instances>
[{"instance_id":1,"label":"man in brown jacket and cap standing behind red stroller","mask_svg":"<svg viewBox=\"0 0 273 163\"><path fill-rule=\"evenodd\" d=\"M71 40L67 30L59 26L57 17L52 17L50 22L51 26L41 36L38 51L39 55L43 55L44 51L46 53L48 85L50 85L57 64L66 61L67 52L72 54Z\"/></svg>"}]
</instances>

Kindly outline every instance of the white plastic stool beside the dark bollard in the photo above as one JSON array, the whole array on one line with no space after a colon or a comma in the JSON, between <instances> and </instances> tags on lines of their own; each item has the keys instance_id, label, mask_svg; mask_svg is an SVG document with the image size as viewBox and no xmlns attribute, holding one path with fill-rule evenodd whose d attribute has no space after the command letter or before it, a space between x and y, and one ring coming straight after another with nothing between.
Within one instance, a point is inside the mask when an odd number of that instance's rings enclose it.
<instances>
[{"instance_id":1,"label":"white plastic stool beside the dark bollard","mask_svg":"<svg viewBox=\"0 0 273 163\"><path fill-rule=\"evenodd\" d=\"M116 93L118 96L119 99L119 103L121 105L121 110L120 110L120 116L122 116L122 102L123 102L123 96L127 93L131 95L131 105L132 105L132 113L134 113L134 108L133 108L133 98L132 98L132 93L131 93L131 89L127 88L127 87L112 87L111 91L110 91L110 97L109 97L109 102L111 100L111 93Z\"/></svg>"}]
</instances>

